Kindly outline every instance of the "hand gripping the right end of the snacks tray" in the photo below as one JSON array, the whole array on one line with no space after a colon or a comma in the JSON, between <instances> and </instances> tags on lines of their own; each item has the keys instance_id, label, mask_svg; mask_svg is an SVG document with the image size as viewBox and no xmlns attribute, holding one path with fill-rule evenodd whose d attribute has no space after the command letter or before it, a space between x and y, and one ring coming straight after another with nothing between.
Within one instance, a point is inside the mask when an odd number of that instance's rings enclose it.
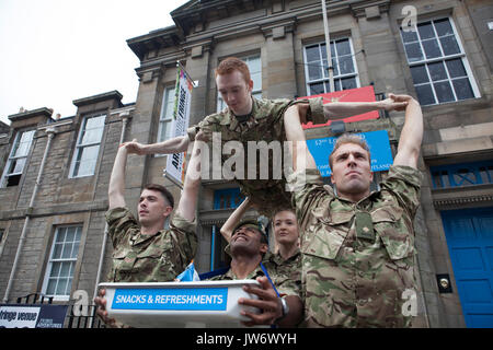
<instances>
[{"instance_id":1,"label":"hand gripping the right end of the snacks tray","mask_svg":"<svg viewBox=\"0 0 493 350\"><path fill-rule=\"evenodd\" d=\"M241 315L249 317L251 320L242 322L244 326L251 327L255 325L272 325L277 318L283 316L283 306L277 296L276 291L272 287L266 277L259 277L256 279L260 283L256 285L244 285L243 290L246 293L255 294L259 300L240 298L238 303L244 306L253 306L261 310L260 314L241 311Z\"/></svg>"}]
</instances>

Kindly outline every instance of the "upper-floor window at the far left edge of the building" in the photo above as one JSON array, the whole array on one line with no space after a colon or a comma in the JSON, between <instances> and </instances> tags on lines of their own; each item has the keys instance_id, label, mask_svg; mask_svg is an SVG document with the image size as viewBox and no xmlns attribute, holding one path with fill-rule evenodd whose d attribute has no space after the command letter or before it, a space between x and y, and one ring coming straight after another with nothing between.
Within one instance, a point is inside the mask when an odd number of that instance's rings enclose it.
<instances>
[{"instance_id":1,"label":"upper-floor window at the far left edge of the building","mask_svg":"<svg viewBox=\"0 0 493 350\"><path fill-rule=\"evenodd\" d=\"M18 132L2 176L2 187L18 186L24 171L35 130Z\"/></svg>"}]
</instances>

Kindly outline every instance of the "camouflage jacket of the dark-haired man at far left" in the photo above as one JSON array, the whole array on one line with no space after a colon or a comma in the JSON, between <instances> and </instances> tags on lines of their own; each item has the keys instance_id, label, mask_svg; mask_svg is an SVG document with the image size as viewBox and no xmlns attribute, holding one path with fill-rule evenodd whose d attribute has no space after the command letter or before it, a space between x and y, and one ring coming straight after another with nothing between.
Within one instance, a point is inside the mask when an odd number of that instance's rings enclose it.
<instances>
[{"instance_id":1,"label":"camouflage jacket of the dark-haired man at far left","mask_svg":"<svg viewBox=\"0 0 493 350\"><path fill-rule=\"evenodd\" d=\"M111 282L173 281L194 258L197 249L196 222L175 214L169 230L140 234L140 226L126 208L106 212L113 242Z\"/></svg>"}]
</instances>

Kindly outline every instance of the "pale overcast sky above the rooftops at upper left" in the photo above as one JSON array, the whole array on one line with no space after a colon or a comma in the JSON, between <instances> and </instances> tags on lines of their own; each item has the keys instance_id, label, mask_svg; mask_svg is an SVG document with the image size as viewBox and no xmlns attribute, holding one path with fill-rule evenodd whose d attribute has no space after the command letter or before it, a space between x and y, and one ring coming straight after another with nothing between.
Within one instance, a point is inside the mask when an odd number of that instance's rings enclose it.
<instances>
[{"instance_id":1,"label":"pale overcast sky above the rooftops at upper left","mask_svg":"<svg viewBox=\"0 0 493 350\"><path fill-rule=\"evenodd\" d=\"M19 109L76 114L73 100L117 90L135 102L126 40L174 24L186 0L0 0L0 119Z\"/></svg>"}]
</instances>

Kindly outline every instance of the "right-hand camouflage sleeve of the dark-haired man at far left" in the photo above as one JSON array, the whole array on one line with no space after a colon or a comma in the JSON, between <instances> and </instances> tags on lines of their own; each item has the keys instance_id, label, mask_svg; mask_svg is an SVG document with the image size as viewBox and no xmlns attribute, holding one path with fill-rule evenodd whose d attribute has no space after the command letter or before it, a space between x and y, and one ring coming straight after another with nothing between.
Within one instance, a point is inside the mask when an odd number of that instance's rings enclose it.
<instances>
[{"instance_id":1,"label":"right-hand camouflage sleeve of the dark-haired man at far left","mask_svg":"<svg viewBox=\"0 0 493 350\"><path fill-rule=\"evenodd\" d=\"M173 245L182 255L185 267L195 257L197 252L197 219L187 221L179 213L175 213L170 222L170 231L172 233Z\"/></svg>"}]
</instances>

